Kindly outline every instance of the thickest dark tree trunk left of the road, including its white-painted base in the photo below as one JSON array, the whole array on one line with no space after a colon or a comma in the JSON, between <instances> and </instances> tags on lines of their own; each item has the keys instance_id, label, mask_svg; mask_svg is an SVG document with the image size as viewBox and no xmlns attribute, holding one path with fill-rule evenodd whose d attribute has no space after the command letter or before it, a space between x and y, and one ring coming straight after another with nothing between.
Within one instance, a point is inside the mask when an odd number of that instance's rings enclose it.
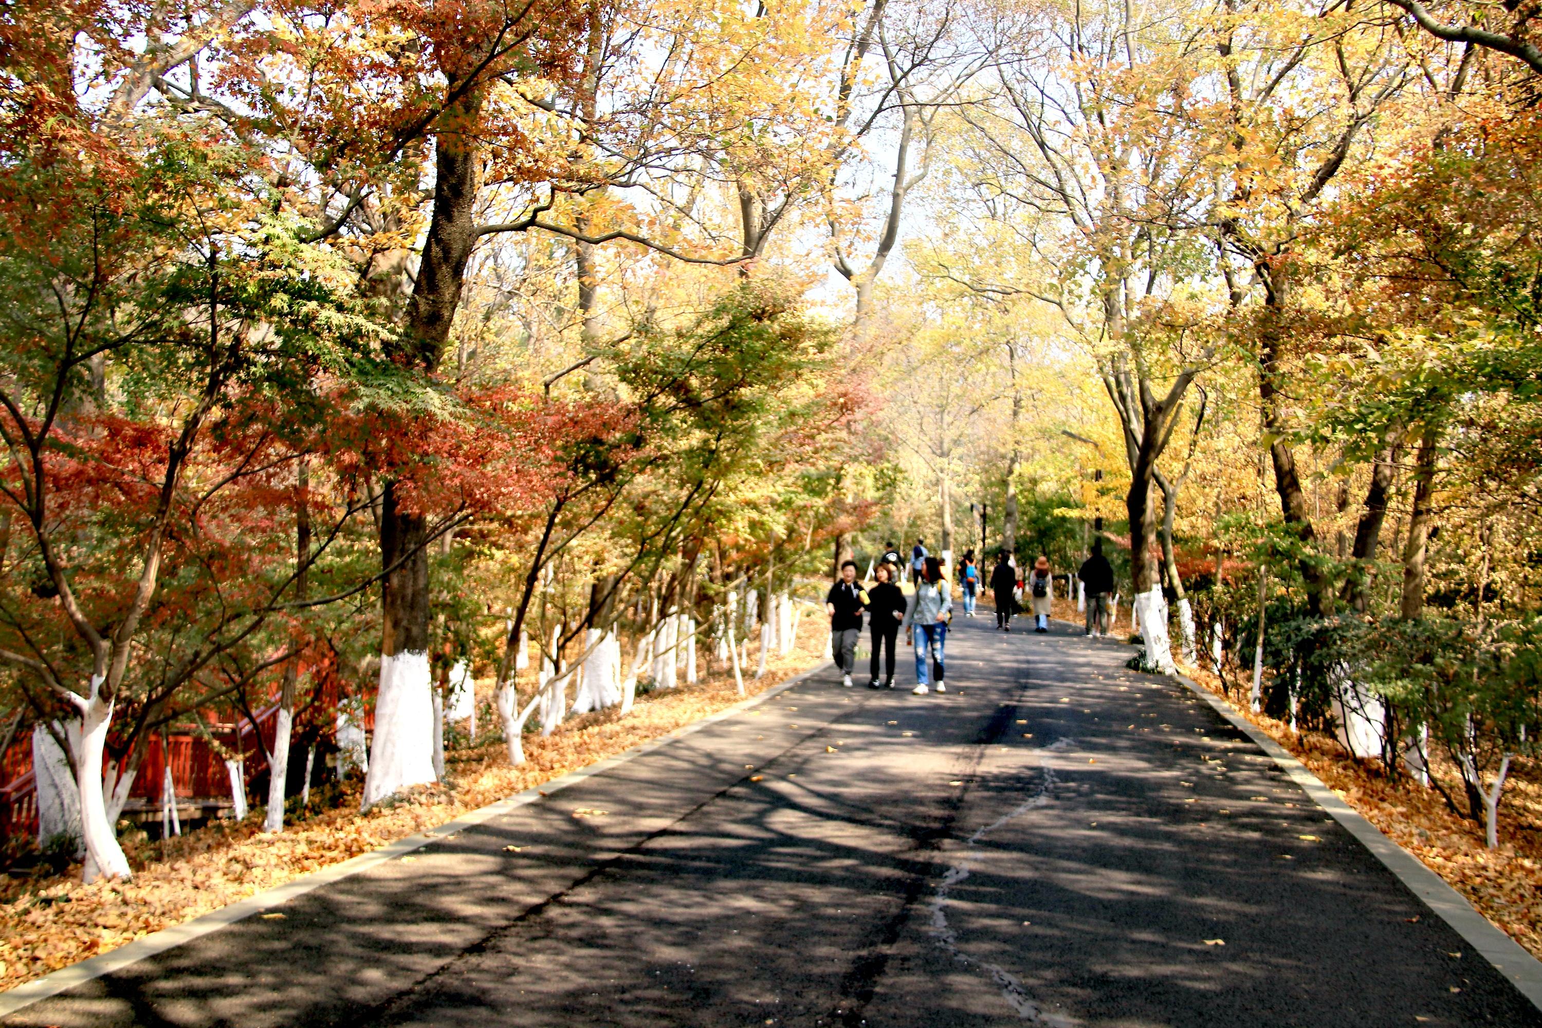
<instances>
[{"instance_id":1,"label":"thickest dark tree trunk left of the road, including its white-painted base","mask_svg":"<svg viewBox=\"0 0 1542 1028\"><path fill-rule=\"evenodd\" d=\"M447 83L449 92L458 82ZM461 302L466 264L476 244L475 205L481 185L476 123L481 91L472 89L441 117L435 139L433 213L407 305L407 324L392 356L432 373L444 353ZM429 519L401 502L387 484L381 512L386 576L381 618L381 678L375 700L375 741L362 806L415 784L435 781L433 681L429 670Z\"/></svg>"}]
</instances>

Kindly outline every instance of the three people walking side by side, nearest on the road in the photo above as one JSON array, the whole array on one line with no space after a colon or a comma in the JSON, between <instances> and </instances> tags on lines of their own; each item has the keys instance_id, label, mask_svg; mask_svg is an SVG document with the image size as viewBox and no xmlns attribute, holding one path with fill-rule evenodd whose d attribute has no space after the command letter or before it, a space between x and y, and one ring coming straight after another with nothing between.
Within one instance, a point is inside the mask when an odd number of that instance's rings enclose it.
<instances>
[{"instance_id":1,"label":"three people walking side by side, nearest on the road","mask_svg":"<svg viewBox=\"0 0 1542 1028\"><path fill-rule=\"evenodd\" d=\"M887 555L885 555L887 556ZM894 687L894 647L899 632L905 632L905 646L916 647L916 695L925 695L933 687L947 692L944 681L944 650L948 637L948 618L953 613L953 596L948 580L942 573L942 561L922 556L916 573L916 590L905 596L894 583L896 566L885 559L873 572L877 584L864 589L857 583L856 561L840 566L840 580L825 596L830 613L831 650L840 666L840 684L851 684L856 670L857 640L862 635L862 613L871 613L871 681L870 689ZM879 681L879 657L884 657L885 677ZM927 657L931 658L931 680L927 677Z\"/></svg>"}]
</instances>

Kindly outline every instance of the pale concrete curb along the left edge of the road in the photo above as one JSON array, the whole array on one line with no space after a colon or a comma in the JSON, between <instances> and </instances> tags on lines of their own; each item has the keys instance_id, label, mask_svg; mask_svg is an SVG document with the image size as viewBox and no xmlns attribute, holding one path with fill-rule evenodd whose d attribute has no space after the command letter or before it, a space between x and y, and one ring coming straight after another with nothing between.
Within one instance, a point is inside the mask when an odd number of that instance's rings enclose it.
<instances>
[{"instance_id":1,"label":"pale concrete curb along the left edge of the road","mask_svg":"<svg viewBox=\"0 0 1542 1028\"><path fill-rule=\"evenodd\" d=\"M295 879L293 882L285 882L284 885L247 897L239 903L222 906L217 911L210 911L208 914L194 917L193 920L174 925L171 928L163 928L157 932L143 936L142 939L136 939L134 942L125 943L111 952L103 952L102 956L89 957L79 963L72 963L68 968L60 968L59 971L45 974L40 979L34 979L23 985L17 985L15 988L6 993L0 993L0 1017L6 1017L19 1010L31 1006L32 1003L49 999L51 996L59 996L66 989L72 989L77 985L85 985L86 982L99 979L105 974L113 974L114 971L120 971L130 966L131 963L139 963L140 960L146 960L150 957L162 954L167 949L173 949L176 946L180 946L182 943L193 942L194 939L219 931L221 928L234 925L236 922L245 920L253 914L261 914L262 911L267 911L270 908L282 906L284 903L288 903L295 897L304 895L311 889L319 889L324 885L332 885L333 882L341 882L342 879L350 879L356 874L362 874L376 865L386 863L387 860L396 860L399 857L406 857L415 849L421 849L423 846L427 846L429 843L444 835L449 835L450 832L483 825L484 821L490 821L495 817L501 817L504 814L509 814L510 811L517 811L521 806L535 803L544 798L546 795L557 792L558 789L566 789L567 786L578 784L584 778L591 778L612 768L620 768L621 764L631 760L637 760L645 754L651 754L655 749L662 749L678 738L683 738L694 732L700 732L708 724L715 724L717 721L722 721L742 711L765 703L771 697L780 692L786 692L793 686L800 684L803 680L825 670L827 667L830 667L830 663L831 661L827 660L820 664L816 664L814 667L810 667L800 675L788 678L779 686L771 686L757 697L740 700L739 703L723 707L717 714L711 714L702 718L700 721L692 721L685 727L678 727L672 732L668 732L666 735L660 735L651 743L643 743L641 746L635 746L629 751L617 754L615 757L606 757L604 760L592 763L588 768L580 768L578 771L569 771L566 775L552 778L550 781L535 786L534 789L517 792L504 800L497 800L493 803L489 803L487 806L481 806L476 808L475 811L461 814L455 820L446 821L444 825L439 825L438 828L433 828L427 832L418 832L416 835L407 835L406 838L398 838L396 842L387 843L386 846L381 846L379 849L375 849L372 852L359 854L358 857L344 860L342 863L335 863L330 868L322 868L321 871L311 871L310 874L304 874Z\"/></svg>"}]
</instances>

